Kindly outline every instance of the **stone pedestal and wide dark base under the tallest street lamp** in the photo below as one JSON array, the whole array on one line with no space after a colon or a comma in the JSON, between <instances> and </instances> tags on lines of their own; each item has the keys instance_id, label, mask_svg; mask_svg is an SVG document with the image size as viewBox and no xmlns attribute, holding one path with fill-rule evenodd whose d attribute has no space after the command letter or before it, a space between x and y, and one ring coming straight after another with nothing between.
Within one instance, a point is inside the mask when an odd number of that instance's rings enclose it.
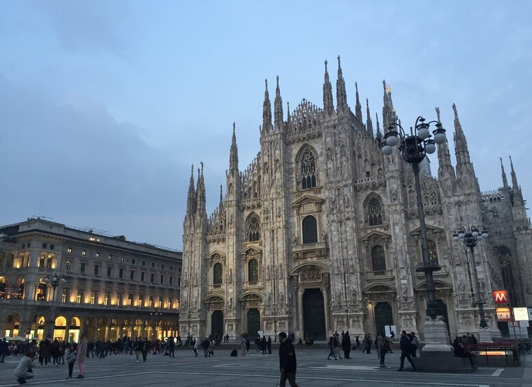
<instances>
[{"instance_id":1,"label":"stone pedestal and wide dark base under the tallest street lamp","mask_svg":"<svg viewBox=\"0 0 532 387\"><path fill-rule=\"evenodd\" d=\"M455 358L449 344L447 325L442 316L425 320L425 346L418 358L413 358L416 369L421 372L471 373L476 370L468 359Z\"/></svg>"}]
</instances>

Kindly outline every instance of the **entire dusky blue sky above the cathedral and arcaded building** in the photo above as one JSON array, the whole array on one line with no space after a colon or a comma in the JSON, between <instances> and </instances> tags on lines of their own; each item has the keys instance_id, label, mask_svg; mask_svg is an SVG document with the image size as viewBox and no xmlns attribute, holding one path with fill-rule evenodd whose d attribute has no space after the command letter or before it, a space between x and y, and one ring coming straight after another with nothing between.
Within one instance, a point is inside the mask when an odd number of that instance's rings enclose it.
<instances>
[{"instance_id":1,"label":"entire dusky blue sky above the cathedral and arcaded building","mask_svg":"<svg viewBox=\"0 0 532 387\"><path fill-rule=\"evenodd\" d=\"M338 55L352 110L357 82L382 122L385 79L403 126L440 107L454 155L456 103L481 190L502 186L499 157L511 181L511 155L532 203L531 15L531 1L3 0L0 224L181 249L191 164L210 214L233 121L240 169L259 151L264 79L273 97L279 75L286 118L287 101L322 105L325 60L335 90Z\"/></svg>"}]
</instances>

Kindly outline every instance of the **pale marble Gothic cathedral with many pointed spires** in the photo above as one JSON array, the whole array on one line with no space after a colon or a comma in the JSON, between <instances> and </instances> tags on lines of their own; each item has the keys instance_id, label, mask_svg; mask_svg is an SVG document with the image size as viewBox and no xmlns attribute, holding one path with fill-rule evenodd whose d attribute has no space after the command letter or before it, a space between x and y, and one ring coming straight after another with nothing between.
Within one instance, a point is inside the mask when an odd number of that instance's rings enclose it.
<instances>
[{"instance_id":1,"label":"pale marble Gothic cathedral with many pointed spires","mask_svg":"<svg viewBox=\"0 0 532 387\"><path fill-rule=\"evenodd\" d=\"M279 77L273 101L264 92L260 151L238 164L235 124L226 192L208 216L203 163L190 176L183 222L181 336L294 332L325 340L332 332L419 332L427 292L414 173L381 143L398 121L390 88L383 83L381 122L366 99L363 117L355 84L354 112L338 57L336 103L325 62L322 107L303 99L283 113ZM507 289L510 306L532 297L532 229L511 163L511 184L501 160L502 187L481 191L470 160L466 131L453 105L455 165L448 142L438 145L438 178L429 160L420 165L429 259L438 315L448 333L479 332L474 303L477 266L481 298L492 336L498 323L492 290ZM440 123L440 110L436 108ZM444 125L445 126L445 125ZM448 138L451 130L447 130ZM474 261L453 242L459 226L483 225ZM387 328L388 327L388 328Z\"/></svg>"}]
</instances>

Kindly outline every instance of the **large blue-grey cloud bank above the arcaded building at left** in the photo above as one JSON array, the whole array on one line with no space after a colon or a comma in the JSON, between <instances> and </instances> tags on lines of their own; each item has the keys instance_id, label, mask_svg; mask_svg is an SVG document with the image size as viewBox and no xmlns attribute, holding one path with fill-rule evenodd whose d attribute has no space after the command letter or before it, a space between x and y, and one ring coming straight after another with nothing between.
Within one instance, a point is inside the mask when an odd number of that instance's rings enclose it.
<instances>
[{"instance_id":1,"label":"large blue-grey cloud bank above the arcaded building at left","mask_svg":"<svg viewBox=\"0 0 532 387\"><path fill-rule=\"evenodd\" d=\"M117 122L91 97L50 101L3 78L0 94L8 150L3 223L41 214L131 240L181 244L188 162L147 145L143 129Z\"/></svg>"}]
</instances>

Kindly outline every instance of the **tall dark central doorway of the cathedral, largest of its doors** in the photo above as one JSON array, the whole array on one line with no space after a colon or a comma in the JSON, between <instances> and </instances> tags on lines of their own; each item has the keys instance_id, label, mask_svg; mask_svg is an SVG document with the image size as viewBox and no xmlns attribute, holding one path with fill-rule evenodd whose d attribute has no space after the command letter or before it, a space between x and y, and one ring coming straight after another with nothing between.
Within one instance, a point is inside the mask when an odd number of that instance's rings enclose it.
<instances>
[{"instance_id":1,"label":"tall dark central doorway of the cathedral, largest of its doors","mask_svg":"<svg viewBox=\"0 0 532 387\"><path fill-rule=\"evenodd\" d=\"M320 289L305 289L303 293L303 329L305 337L327 340L325 332L325 305Z\"/></svg>"}]
</instances>

